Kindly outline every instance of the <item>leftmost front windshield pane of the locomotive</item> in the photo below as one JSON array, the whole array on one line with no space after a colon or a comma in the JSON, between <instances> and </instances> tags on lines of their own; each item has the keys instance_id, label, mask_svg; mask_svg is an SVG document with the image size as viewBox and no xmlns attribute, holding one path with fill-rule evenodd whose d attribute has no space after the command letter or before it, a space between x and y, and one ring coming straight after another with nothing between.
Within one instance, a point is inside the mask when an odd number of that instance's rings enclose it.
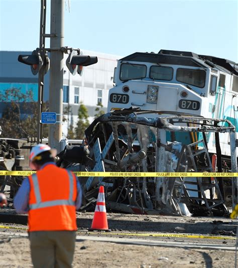
<instances>
[{"instance_id":1,"label":"leftmost front windshield pane of the locomotive","mask_svg":"<svg viewBox=\"0 0 238 268\"><path fill-rule=\"evenodd\" d=\"M120 79L131 80L146 77L146 65L123 63L120 70Z\"/></svg>"}]
</instances>

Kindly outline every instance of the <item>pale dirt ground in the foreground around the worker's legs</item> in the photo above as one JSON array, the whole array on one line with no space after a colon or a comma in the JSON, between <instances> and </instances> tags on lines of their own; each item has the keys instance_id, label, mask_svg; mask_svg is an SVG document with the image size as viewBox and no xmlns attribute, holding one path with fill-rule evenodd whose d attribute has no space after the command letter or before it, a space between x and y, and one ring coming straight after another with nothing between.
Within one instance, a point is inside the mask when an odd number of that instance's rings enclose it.
<instances>
[{"instance_id":1,"label":"pale dirt ground in the foreground around the worker's legs","mask_svg":"<svg viewBox=\"0 0 238 268\"><path fill-rule=\"evenodd\" d=\"M33 267L27 237L0 235L0 267ZM83 240L76 242L73 267L234 267L234 251L184 249Z\"/></svg>"}]
</instances>

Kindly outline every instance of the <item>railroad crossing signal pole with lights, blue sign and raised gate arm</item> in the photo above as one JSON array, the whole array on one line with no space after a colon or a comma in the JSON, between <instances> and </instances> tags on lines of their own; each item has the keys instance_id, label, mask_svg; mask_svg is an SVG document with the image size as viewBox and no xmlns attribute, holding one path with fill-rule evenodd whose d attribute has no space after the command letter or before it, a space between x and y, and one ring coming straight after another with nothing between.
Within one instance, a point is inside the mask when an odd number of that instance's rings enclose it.
<instances>
[{"instance_id":1,"label":"railroad crossing signal pole with lights, blue sign and raised gate arm","mask_svg":"<svg viewBox=\"0 0 238 268\"><path fill-rule=\"evenodd\" d=\"M62 143L64 53L72 75L82 76L83 68L97 63L97 57L83 55L80 49L64 47L64 0L51 0L50 34L45 33L46 1L41 0L40 48L32 55L19 55L18 61L31 66L38 79L37 143L42 143L42 124L49 124L49 145L60 152ZM50 48L45 48L50 38ZM47 52L50 52L50 60ZM49 112L43 112L44 75L50 68ZM56 119L58 117L58 120Z\"/></svg>"}]
</instances>

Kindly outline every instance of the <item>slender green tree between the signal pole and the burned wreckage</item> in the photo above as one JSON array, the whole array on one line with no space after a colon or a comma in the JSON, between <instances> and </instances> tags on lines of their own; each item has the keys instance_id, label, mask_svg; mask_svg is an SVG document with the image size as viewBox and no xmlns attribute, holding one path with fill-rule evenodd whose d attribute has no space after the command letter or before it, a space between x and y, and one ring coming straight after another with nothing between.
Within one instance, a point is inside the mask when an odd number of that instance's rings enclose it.
<instances>
[{"instance_id":1,"label":"slender green tree between the signal pole and the burned wreckage","mask_svg":"<svg viewBox=\"0 0 238 268\"><path fill-rule=\"evenodd\" d=\"M86 106L80 102L80 106L78 108L78 122L75 128L76 139L84 138L84 131L89 126L88 117L88 110Z\"/></svg>"}]
</instances>

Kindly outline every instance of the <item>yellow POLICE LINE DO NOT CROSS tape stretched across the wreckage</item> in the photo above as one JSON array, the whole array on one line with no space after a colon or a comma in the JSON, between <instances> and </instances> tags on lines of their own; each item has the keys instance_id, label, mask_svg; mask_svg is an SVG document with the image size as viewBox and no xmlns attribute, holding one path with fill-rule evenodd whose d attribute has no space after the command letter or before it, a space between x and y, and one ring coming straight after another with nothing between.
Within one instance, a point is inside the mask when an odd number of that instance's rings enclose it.
<instances>
[{"instance_id":1,"label":"yellow POLICE LINE DO NOT CROSS tape stretched across the wreckage","mask_svg":"<svg viewBox=\"0 0 238 268\"><path fill-rule=\"evenodd\" d=\"M30 176L35 171L0 170L0 176ZM238 172L97 172L76 171L78 177L238 177Z\"/></svg>"}]
</instances>

